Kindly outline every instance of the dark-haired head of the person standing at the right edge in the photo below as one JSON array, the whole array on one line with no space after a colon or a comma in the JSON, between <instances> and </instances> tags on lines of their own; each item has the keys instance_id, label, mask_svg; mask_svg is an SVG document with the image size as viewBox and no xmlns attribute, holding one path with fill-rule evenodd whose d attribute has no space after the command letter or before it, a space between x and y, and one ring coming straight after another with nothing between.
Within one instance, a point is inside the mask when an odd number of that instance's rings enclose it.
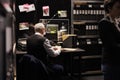
<instances>
[{"instance_id":1,"label":"dark-haired head of the person standing at the right edge","mask_svg":"<svg viewBox=\"0 0 120 80\"><path fill-rule=\"evenodd\" d=\"M114 17L120 16L120 0L105 0L105 12L112 14Z\"/></svg>"}]
</instances>

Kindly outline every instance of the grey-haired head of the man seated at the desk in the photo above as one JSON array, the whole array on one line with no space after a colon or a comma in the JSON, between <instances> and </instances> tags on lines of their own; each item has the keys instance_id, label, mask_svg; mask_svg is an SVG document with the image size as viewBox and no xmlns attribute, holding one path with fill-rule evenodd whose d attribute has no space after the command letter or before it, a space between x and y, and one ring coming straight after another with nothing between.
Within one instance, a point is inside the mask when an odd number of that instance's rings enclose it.
<instances>
[{"instance_id":1,"label":"grey-haired head of the man seated at the desk","mask_svg":"<svg viewBox=\"0 0 120 80\"><path fill-rule=\"evenodd\" d=\"M42 35L46 34L45 25L43 23L37 23L37 24L35 24L34 28L35 28L35 32L39 32Z\"/></svg>"}]
</instances>

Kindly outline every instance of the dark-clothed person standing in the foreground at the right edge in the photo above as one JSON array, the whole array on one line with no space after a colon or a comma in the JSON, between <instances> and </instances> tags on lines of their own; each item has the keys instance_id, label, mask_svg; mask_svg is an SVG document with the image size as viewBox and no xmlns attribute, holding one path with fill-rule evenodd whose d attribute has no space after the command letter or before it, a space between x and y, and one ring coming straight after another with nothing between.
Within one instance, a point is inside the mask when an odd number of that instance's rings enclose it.
<instances>
[{"instance_id":1,"label":"dark-clothed person standing in the foreground at the right edge","mask_svg":"<svg viewBox=\"0 0 120 80\"><path fill-rule=\"evenodd\" d=\"M105 17L99 22L103 42L102 70L104 80L120 80L120 0L105 0Z\"/></svg>"}]
</instances>

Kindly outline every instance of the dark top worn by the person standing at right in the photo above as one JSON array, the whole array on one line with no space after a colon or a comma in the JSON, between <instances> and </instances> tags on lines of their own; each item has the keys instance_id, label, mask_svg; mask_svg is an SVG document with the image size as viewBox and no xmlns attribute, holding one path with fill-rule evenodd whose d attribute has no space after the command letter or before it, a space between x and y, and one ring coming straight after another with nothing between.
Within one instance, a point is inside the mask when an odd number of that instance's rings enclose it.
<instances>
[{"instance_id":1,"label":"dark top worn by the person standing at right","mask_svg":"<svg viewBox=\"0 0 120 80\"><path fill-rule=\"evenodd\" d=\"M99 32L103 42L103 63L120 65L120 32L108 16L99 22Z\"/></svg>"}]
</instances>

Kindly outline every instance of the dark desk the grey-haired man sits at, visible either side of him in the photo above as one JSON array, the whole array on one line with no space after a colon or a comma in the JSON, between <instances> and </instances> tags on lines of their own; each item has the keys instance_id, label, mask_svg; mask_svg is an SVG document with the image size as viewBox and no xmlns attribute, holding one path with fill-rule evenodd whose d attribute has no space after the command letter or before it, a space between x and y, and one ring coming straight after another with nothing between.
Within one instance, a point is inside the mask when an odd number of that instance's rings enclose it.
<instances>
[{"instance_id":1,"label":"dark desk the grey-haired man sits at, visible either side of him","mask_svg":"<svg viewBox=\"0 0 120 80\"><path fill-rule=\"evenodd\" d=\"M81 73L81 54L84 53L85 50L80 49L80 48L62 48L61 49L61 54L53 58L53 61L59 61L65 68L65 71L70 73L70 75L73 75L73 70L74 70L74 57L77 56L78 59L78 69L79 69L79 74ZM17 51L17 55L20 58L22 55L26 54L26 51ZM18 58L18 59L19 59ZM79 75L81 76L81 74Z\"/></svg>"}]
</instances>

